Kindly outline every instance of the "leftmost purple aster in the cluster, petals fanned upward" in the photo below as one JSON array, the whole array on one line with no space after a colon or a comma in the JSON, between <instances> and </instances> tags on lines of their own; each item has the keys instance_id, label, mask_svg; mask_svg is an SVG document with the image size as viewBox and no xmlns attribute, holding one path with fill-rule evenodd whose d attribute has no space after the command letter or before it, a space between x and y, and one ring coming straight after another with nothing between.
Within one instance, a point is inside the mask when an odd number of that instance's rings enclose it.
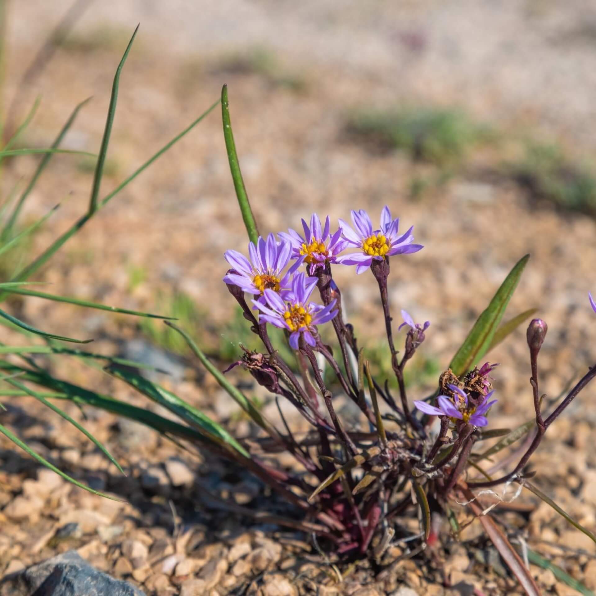
<instances>
[{"instance_id":1,"label":"leftmost purple aster in the cluster, petals fanned upward","mask_svg":"<svg viewBox=\"0 0 596 596\"><path fill-rule=\"evenodd\" d=\"M290 288L290 276L300 266L298 260L282 275L290 261L290 243L278 242L273 234L267 240L259 236L257 245L249 243L250 260L237 250L227 250L225 260L234 269L224 277L226 284L234 284L245 292L262 296L265 290L284 293Z\"/></svg>"}]
</instances>

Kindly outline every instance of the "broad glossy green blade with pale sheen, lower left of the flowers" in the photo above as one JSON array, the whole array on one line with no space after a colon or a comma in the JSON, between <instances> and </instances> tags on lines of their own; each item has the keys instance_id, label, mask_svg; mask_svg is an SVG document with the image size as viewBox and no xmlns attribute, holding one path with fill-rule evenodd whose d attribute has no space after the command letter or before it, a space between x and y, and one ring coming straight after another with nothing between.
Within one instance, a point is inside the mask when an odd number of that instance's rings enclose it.
<instances>
[{"instance_id":1,"label":"broad glossy green blade with pale sheen, lower left of the flowers","mask_svg":"<svg viewBox=\"0 0 596 596\"><path fill-rule=\"evenodd\" d=\"M151 383L151 381L141 377L141 375L125 369L107 367L105 370L114 377L125 381L125 383L128 383L131 387L134 387L139 393L142 393L142 395L147 396L164 408L169 409L170 412L176 414L181 420L184 420L186 423L193 426L198 432L206 434L219 445L233 448L244 455L244 457L250 458L249 452L247 452L246 449L244 449L244 447L240 445L240 443L238 443L237 440L235 440L223 427L219 426L219 424L211 420L211 418L203 414L203 412L197 408L194 408L194 406L191 406L190 403L180 399L175 393L160 387L156 383Z\"/></svg>"}]
</instances>

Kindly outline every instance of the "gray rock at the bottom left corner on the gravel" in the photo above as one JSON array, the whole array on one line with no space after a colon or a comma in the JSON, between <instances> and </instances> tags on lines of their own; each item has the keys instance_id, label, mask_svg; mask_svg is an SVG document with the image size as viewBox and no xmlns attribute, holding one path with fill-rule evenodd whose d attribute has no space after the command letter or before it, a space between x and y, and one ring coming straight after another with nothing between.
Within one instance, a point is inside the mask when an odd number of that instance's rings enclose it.
<instances>
[{"instance_id":1,"label":"gray rock at the bottom left corner on the gravel","mask_svg":"<svg viewBox=\"0 0 596 596\"><path fill-rule=\"evenodd\" d=\"M131 585L111 578L68 551L27 567L0 583L2 596L145 596Z\"/></svg>"}]
</instances>

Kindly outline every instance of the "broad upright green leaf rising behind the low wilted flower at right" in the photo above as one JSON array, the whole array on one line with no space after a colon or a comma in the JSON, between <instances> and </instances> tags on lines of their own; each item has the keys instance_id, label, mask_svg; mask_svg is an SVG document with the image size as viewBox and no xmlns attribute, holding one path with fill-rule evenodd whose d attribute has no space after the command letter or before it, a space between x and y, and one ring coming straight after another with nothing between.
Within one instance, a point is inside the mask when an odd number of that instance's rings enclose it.
<instances>
[{"instance_id":1,"label":"broad upright green leaf rising behind the low wilted flower at right","mask_svg":"<svg viewBox=\"0 0 596 596\"><path fill-rule=\"evenodd\" d=\"M479 316L476 324L474 324L464 343L455 354L451 364L449 364L449 368L451 368L457 377L470 370L488 351L496 329L501 322L501 318L529 258L530 255L526 254L511 269L510 274L507 275L501 287L496 291L488 308Z\"/></svg>"}]
</instances>

